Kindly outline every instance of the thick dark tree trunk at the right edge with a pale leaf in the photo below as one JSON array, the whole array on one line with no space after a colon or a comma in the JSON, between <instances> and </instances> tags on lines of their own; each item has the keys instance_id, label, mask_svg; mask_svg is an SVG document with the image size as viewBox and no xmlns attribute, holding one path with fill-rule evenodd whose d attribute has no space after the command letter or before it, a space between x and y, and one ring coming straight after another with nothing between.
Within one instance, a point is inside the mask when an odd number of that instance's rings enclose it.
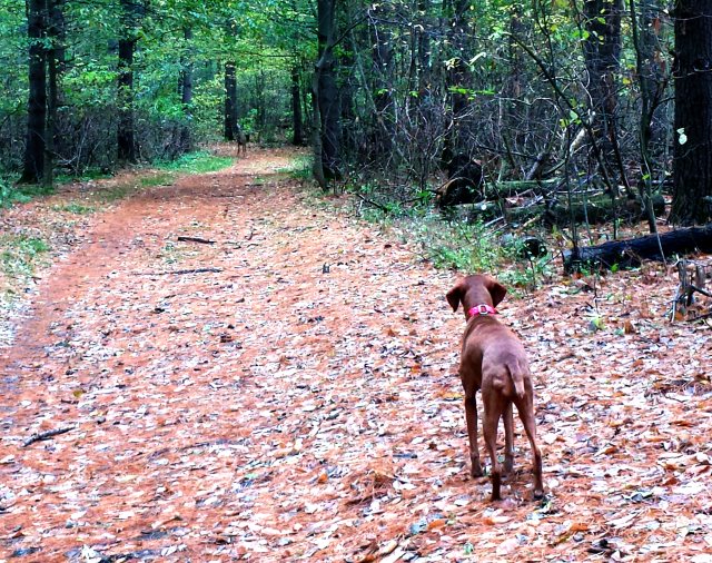
<instances>
[{"instance_id":1,"label":"thick dark tree trunk at the right edge with a pale leaf","mask_svg":"<svg viewBox=\"0 0 712 563\"><path fill-rule=\"evenodd\" d=\"M679 225L712 218L712 1L678 0L675 126L670 218Z\"/></svg>"}]
</instances>

